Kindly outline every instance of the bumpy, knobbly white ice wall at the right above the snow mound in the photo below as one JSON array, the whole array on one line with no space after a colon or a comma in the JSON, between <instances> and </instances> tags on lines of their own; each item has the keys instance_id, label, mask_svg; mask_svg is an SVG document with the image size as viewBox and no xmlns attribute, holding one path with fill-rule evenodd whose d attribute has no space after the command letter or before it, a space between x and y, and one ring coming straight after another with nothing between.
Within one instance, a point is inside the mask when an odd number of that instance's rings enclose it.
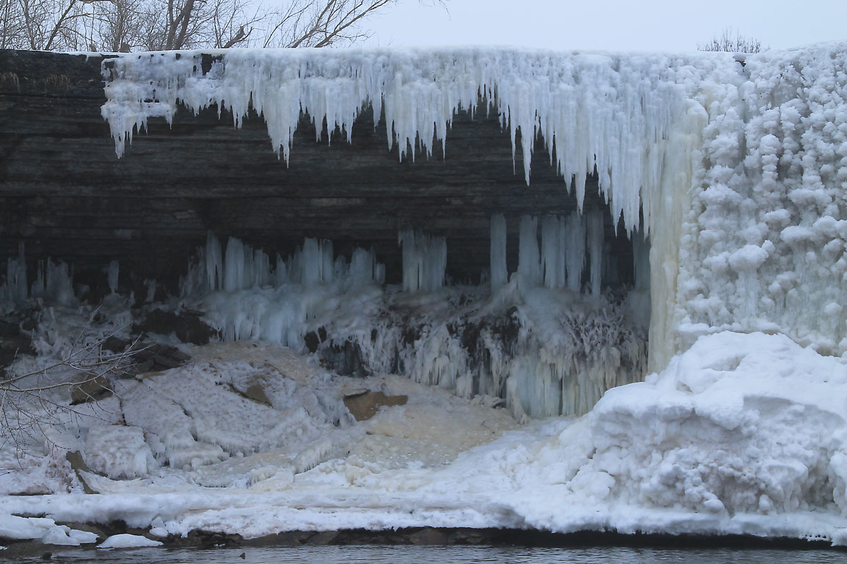
<instances>
[{"instance_id":1,"label":"bumpy, knobbly white ice wall at the right above the snow mound","mask_svg":"<svg viewBox=\"0 0 847 564\"><path fill-rule=\"evenodd\" d=\"M678 348L723 329L847 352L847 45L746 59L706 106Z\"/></svg>"}]
</instances>

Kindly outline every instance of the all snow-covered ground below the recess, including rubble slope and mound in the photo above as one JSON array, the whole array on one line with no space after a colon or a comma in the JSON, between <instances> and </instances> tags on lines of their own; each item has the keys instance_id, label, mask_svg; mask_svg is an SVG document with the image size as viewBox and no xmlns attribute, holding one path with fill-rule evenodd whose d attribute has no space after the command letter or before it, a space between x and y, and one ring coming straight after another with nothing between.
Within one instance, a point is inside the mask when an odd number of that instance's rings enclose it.
<instances>
[{"instance_id":1,"label":"all snow-covered ground below the recess, including rubble slope and mound","mask_svg":"<svg viewBox=\"0 0 847 564\"><path fill-rule=\"evenodd\" d=\"M54 456L24 481L62 474L69 491L0 497L0 535L74 544L54 521L121 518L159 537L427 525L847 541L847 367L787 337L701 337L584 417L523 426L479 398L330 375L280 345L191 353L51 437L105 474L81 474L100 493ZM254 383L269 405L239 393ZM357 422L343 397L363 387L407 403ZM6 491L20 482L0 477Z\"/></svg>"}]
</instances>

